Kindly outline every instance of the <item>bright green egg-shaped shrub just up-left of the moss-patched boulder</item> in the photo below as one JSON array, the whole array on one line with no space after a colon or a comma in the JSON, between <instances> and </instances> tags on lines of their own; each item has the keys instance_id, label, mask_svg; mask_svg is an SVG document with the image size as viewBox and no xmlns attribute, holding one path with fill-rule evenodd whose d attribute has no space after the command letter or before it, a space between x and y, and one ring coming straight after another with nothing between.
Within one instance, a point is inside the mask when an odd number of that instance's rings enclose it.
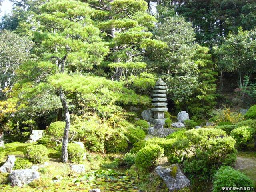
<instances>
[{"instance_id":1,"label":"bright green egg-shaped shrub just up-left of the moss-patched boulder","mask_svg":"<svg viewBox=\"0 0 256 192\"><path fill-rule=\"evenodd\" d=\"M138 152L135 158L135 166L142 171L148 171L156 164L157 159L162 156L163 152L164 150L159 145L150 144Z\"/></svg>"}]
</instances>

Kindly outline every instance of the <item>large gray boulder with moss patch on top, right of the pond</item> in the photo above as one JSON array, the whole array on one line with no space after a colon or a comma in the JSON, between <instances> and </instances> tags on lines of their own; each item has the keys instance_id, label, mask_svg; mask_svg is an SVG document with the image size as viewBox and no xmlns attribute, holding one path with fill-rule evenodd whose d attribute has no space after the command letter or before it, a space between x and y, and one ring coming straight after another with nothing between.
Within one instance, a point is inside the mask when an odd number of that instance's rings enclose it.
<instances>
[{"instance_id":1,"label":"large gray boulder with moss patch on top, right of the pond","mask_svg":"<svg viewBox=\"0 0 256 192\"><path fill-rule=\"evenodd\" d=\"M170 191L190 186L190 180L180 170L178 164L172 164L166 168L158 166L156 172L164 180Z\"/></svg>"}]
</instances>

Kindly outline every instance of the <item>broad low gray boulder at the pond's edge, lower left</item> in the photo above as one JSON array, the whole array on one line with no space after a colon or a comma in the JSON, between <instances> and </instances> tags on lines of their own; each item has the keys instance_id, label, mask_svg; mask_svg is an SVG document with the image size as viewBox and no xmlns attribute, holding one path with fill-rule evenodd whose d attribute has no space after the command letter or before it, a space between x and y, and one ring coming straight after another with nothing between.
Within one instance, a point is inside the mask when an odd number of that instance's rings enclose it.
<instances>
[{"instance_id":1,"label":"broad low gray boulder at the pond's edge, lower left","mask_svg":"<svg viewBox=\"0 0 256 192\"><path fill-rule=\"evenodd\" d=\"M9 181L12 186L22 186L40 178L40 174L32 169L17 169L10 173Z\"/></svg>"}]
</instances>

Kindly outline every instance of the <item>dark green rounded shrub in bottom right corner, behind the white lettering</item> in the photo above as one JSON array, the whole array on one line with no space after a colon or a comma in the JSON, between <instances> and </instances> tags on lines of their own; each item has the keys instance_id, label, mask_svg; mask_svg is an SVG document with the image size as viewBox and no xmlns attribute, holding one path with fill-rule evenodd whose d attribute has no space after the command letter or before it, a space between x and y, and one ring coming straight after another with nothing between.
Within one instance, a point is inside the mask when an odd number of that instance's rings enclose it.
<instances>
[{"instance_id":1,"label":"dark green rounded shrub in bottom right corner, behind the white lettering","mask_svg":"<svg viewBox=\"0 0 256 192\"><path fill-rule=\"evenodd\" d=\"M230 166L221 167L214 175L213 192L222 191L223 187L254 187L253 181Z\"/></svg>"}]
</instances>

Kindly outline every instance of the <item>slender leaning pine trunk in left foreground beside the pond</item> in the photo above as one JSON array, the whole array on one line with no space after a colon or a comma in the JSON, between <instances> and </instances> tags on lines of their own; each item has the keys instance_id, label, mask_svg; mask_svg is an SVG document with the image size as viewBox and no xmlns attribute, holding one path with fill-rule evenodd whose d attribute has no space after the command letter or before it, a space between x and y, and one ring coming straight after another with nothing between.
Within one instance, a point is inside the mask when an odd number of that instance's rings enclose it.
<instances>
[{"instance_id":1,"label":"slender leaning pine trunk in left foreground beside the pond","mask_svg":"<svg viewBox=\"0 0 256 192\"><path fill-rule=\"evenodd\" d=\"M62 103L62 108L65 114L65 128L64 128L64 133L63 133L63 138L62 138L62 148L61 148L61 160L63 163L68 162L68 133L70 130L70 114L68 110L68 103L66 101L66 97L64 95L63 90L60 90L60 101Z\"/></svg>"}]
</instances>

